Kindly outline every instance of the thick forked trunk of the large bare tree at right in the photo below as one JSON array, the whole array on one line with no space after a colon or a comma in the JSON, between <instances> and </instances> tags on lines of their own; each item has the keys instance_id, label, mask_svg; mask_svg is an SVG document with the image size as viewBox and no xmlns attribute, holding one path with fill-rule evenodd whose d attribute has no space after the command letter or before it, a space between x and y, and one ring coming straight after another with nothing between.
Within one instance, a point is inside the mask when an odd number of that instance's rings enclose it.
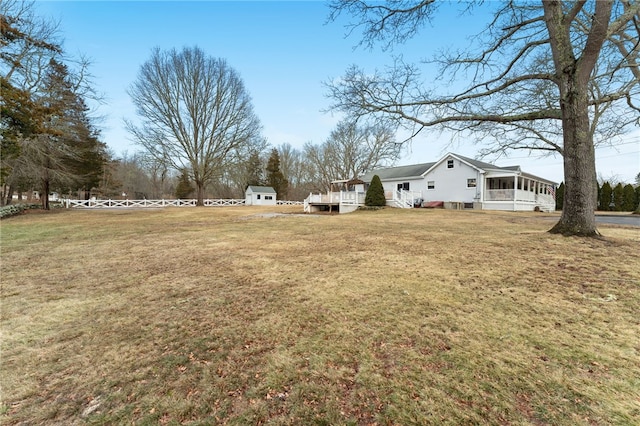
<instances>
[{"instance_id":1,"label":"thick forked trunk of the large bare tree at right","mask_svg":"<svg viewBox=\"0 0 640 426\"><path fill-rule=\"evenodd\" d=\"M578 56L571 23L584 3L565 10L563 2L543 2L544 18L560 89L564 141L564 206L560 221L550 230L562 235L599 236L595 209L596 159L589 122L588 85L607 37L612 0L596 2L592 26Z\"/></svg>"}]
</instances>

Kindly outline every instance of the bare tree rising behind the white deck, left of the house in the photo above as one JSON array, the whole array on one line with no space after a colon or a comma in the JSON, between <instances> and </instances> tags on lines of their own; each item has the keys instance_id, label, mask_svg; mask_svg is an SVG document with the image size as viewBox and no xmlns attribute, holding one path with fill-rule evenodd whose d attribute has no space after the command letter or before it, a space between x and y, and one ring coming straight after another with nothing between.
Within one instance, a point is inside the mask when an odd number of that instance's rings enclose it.
<instances>
[{"instance_id":1,"label":"bare tree rising behind the white deck, left of the house","mask_svg":"<svg viewBox=\"0 0 640 426\"><path fill-rule=\"evenodd\" d=\"M354 179L398 159L401 144L391 127L383 124L359 126L342 121L320 146L305 145L305 156L316 173L316 181L329 189L336 179Z\"/></svg>"}]
</instances>

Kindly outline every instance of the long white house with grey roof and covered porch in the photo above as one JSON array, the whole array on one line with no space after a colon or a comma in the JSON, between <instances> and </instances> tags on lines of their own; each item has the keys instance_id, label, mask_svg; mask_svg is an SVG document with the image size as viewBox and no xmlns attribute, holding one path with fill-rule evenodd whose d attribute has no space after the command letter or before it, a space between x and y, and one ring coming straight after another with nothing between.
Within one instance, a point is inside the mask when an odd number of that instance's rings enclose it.
<instances>
[{"instance_id":1,"label":"long white house with grey roof and covered porch","mask_svg":"<svg viewBox=\"0 0 640 426\"><path fill-rule=\"evenodd\" d=\"M525 173L520 166L498 167L453 153L434 163L373 170L360 176L364 184L356 188L356 192L366 191L374 175L382 182L387 205L396 207L555 209L555 182ZM345 194L339 197L340 200L351 198L354 197ZM362 197L356 195L355 198Z\"/></svg>"}]
</instances>

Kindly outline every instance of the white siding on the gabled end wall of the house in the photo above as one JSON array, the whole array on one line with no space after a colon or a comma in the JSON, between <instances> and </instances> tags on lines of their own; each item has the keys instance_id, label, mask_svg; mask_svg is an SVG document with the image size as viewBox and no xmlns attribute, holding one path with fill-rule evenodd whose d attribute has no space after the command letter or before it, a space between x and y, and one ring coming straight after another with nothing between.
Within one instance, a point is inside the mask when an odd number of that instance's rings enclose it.
<instances>
[{"instance_id":1,"label":"white siding on the gabled end wall of the house","mask_svg":"<svg viewBox=\"0 0 640 426\"><path fill-rule=\"evenodd\" d=\"M447 167L448 160L453 160L453 168ZM475 188L467 187L467 179L475 179ZM472 203L480 196L482 174L474 167L454 157L447 157L438 163L424 177L425 201L452 201ZM427 183L435 182L435 189L427 190Z\"/></svg>"}]
</instances>

